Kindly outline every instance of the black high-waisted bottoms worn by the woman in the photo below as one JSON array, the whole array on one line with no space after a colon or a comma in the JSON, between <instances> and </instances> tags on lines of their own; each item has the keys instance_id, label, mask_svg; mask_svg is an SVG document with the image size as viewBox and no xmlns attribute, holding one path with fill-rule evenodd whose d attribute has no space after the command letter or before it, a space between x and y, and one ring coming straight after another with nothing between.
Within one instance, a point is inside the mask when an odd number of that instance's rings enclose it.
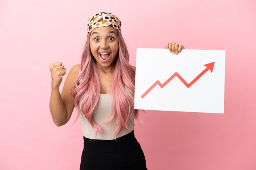
<instances>
[{"instance_id":1,"label":"black high-waisted bottoms worn by the woman","mask_svg":"<svg viewBox=\"0 0 256 170\"><path fill-rule=\"evenodd\" d=\"M146 159L134 130L113 140L83 137L80 170L147 170Z\"/></svg>"}]
</instances>

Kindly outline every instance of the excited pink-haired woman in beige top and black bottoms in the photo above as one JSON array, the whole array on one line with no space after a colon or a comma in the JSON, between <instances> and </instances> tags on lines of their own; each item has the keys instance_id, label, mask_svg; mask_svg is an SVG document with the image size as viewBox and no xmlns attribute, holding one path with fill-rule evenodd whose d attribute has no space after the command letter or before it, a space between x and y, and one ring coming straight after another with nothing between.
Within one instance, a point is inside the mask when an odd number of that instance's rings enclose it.
<instances>
[{"instance_id":1,"label":"excited pink-haired woman in beige top and black bottoms","mask_svg":"<svg viewBox=\"0 0 256 170\"><path fill-rule=\"evenodd\" d=\"M173 54L183 46L168 43ZM81 64L74 65L60 94L66 68L50 65L52 94L50 111L54 123L62 126L76 107L83 129L81 170L146 170L146 160L134 136L133 109L135 67L121 35L121 21L112 13L92 15L87 24L87 41ZM81 107L83 106L83 107Z\"/></svg>"}]
</instances>

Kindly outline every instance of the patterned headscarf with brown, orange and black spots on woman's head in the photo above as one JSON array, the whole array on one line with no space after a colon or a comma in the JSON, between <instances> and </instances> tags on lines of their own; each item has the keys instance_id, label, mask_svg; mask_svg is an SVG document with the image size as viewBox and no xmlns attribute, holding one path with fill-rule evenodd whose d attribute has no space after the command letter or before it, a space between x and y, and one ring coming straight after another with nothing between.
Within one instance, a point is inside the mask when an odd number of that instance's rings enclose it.
<instances>
[{"instance_id":1,"label":"patterned headscarf with brown, orange and black spots on woman's head","mask_svg":"<svg viewBox=\"0 0 256 170\"><path fill-rule=\"evenodd\" d=\"M95 28L110 26L116 28L121 33L121 21L116 15L109 12L101 12L92 15L87 23L87 35L92 32Z\"/></svg>"}]
</instances>

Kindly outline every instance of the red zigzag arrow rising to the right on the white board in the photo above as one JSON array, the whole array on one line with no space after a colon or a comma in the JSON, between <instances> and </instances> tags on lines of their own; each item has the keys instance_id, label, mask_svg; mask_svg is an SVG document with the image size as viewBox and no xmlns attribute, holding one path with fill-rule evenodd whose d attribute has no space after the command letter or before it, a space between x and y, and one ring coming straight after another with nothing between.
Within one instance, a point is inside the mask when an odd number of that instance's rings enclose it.
<instances>
[{"instance_id":1,"label":"red zigzag arrow rising to the right on the white board","mask_svg":"<svg viewBox=\"0 0 256 170\"><path fill-rule=\"evenodd\" d=\"M180 81L182 81L182 83L186 86L186 87L190 87L191 85L193 85L196 81L198 81L198 79L200 77L202 77L202 75L204 75L204 73L206 73L208 70L210 70L211 72L213 71L213 66L214 63L209 63L209 64L205 64L204 66L206 66L206 68L204 69L204 71L202 71L198 76L196 76L194 78L194 80L192 80L189 84L186 83L186 81L182 78L182 76L180 76L179 73L175 72L170 78L168 78L168 80L166 80L163 84L157 80L153 85L151 85L151 87L149 87L147 89L147 91L141 95L141 98L144 98L156 85L159 85L161 88L164 88L164 86L166 86L175 76L177 76L177 78L180 79Z\"/></svg>"}]
</instances>

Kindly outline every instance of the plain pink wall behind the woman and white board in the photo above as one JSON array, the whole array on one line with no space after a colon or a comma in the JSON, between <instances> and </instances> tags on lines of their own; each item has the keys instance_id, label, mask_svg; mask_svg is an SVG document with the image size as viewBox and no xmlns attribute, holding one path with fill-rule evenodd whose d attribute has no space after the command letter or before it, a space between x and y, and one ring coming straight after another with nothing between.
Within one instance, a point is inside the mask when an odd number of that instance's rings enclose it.
<instances>
[{"instance_id":1,"label":"plain pink wall behind the woman and white board","mask_svg":"<svg viewBox=\"0 0 256 170\"><path fill-rule=\"evenodd\" d=\"M88 18L109 11L122 22L133 65L136 48L167 42L226 50L224 114L141 113L135 136L148 169L255 170L255 7L255 0L1 0L0 169L79 169L80 123L70 129L75 111L65 126L52 122L49 65L61 61L69 72L78 64Z\"/></svg>"}]
</instances>

